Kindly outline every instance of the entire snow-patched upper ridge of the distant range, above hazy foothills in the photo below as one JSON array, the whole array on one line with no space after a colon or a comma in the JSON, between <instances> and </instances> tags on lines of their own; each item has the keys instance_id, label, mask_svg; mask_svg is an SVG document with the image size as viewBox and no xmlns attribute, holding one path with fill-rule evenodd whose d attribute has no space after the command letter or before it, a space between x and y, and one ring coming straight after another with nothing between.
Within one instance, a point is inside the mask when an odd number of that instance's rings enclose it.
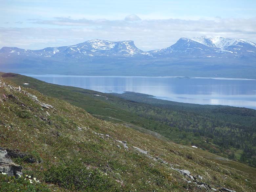
<instances>
[{"instance_id":1,"label":"entire snow-patched upper ridge of the distant range, above hazy foothills","mask_svg":"<svg viewBox=\"0 0 256 192\"><path fill-rule=\"evenodd\" d=\"M48 47L42 50L27 50L16 47L3 47L0 53L22 53L35 54L37 56L53 56L62 53L69 53L74 56L76 53L86 56L134 56L136 54L157 56L160 53L169 54L174 52L192 53L198 49L201 53L227 52L232 49L234 53L252 52L256 54L256 44L243 39L229 39L221 36L202 36L192 39L180 38L174 45L160 50L144 52L138 49L134 41L107 41L101 39L93 39L71 46ZM250 49L250 50L245 50ZM201 50L201 51L200 51ZM255 52L254 52L255 51ZM195 52L197 53L197 52ZM11 56L11 55L10 55Z\"/></svg>"}]
</instances>

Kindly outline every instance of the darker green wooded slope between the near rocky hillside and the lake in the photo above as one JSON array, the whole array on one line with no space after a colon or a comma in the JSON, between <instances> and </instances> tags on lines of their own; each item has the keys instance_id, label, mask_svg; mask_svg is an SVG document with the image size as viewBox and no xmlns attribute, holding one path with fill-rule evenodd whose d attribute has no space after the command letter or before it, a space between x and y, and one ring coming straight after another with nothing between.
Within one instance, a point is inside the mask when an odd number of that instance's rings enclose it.
<instances>
[{"instance_id":1,"label":"darker green wooded slope between the near rocky hillside and the lake","mask_svg":"<svg viewBox=\"0 0 256 192\"><path fill-rule=\"evenodd\" d=\"M19 85L29 83L24 86L66 100L95 117L256 166L256 110L179 103L131 92L104 94L18 74L2 76Z\"/></svg>"}]
</instances>

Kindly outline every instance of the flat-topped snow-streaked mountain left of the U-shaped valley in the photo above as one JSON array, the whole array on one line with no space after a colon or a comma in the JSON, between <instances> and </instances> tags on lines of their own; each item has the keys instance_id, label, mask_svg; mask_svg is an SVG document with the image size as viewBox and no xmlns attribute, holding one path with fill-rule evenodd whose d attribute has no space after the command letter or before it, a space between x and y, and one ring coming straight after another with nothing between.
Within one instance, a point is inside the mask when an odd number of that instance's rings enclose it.
<instances>
[{"instance_id":1,"label":"flat-topped snow-streaked mountain left of the U-shaped valley","mask_svg":"<svg viewBox=\"0 0 256 192\"><path fill-rule=\"evenodd\" d=\"M88 56L134 56L144 53L139 50L133 41L106 41L93 39L72 46L48 47L42 50L26 50L16 47L3 47L0 53L5 53L5 57L11 55L43 56L43 57L74 57L84 58Z\"/></svg>"}]
</instances>

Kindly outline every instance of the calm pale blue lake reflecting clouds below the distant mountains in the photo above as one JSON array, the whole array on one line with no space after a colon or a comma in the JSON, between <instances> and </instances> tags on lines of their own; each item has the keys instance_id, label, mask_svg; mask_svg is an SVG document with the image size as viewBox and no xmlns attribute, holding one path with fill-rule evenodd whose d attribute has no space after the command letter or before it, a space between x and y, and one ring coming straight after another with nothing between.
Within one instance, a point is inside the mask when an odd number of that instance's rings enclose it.
<instances>
[{"instance_id":1,"label":"calm pale blue lake reflecting clouds below the distant mountains","mask_svg":"<svg viewBox=\"0 0 256 192\"><path fill-rule=\"evenodd\" d=\"M104 93L133 91L184 103L256 109L256 80L230 78L32 75L48 83Z\"/></svg>"}]
</instances>

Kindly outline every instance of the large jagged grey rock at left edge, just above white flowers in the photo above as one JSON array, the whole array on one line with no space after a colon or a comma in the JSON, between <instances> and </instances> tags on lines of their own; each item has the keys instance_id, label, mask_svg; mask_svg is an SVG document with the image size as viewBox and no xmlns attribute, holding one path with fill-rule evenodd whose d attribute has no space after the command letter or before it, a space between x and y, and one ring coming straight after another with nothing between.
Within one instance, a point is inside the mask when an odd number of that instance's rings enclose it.
<instances>
[{"instance_id":1,"label":"large jagged grey rock at left edge, just above white flowers","mask_svg":"<svg viewBox=\"0 0 256 192\"><path fill-rule=\"evenodd\" d=\"M0 172L6 173L8 176L21 176L22 166L13 163L6 150L0 150Z\"/></svg>"}]
</instances>

